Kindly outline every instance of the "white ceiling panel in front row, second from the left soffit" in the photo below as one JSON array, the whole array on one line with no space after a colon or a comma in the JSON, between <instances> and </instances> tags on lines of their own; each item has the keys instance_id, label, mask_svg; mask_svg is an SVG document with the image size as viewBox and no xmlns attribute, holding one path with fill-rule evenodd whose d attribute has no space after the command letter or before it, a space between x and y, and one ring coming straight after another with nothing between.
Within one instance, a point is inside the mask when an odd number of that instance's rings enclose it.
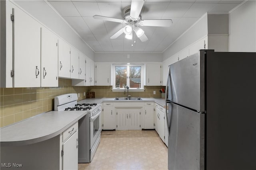
<instances>
[{"instance_id":1,"label":"white ceiling panel in front row, second from the left soffit","mask_svg":"<svg viewBox=\"0 0 256 170\"><path fill-rule=\"evenodd\" d=\"M92 17L94 15L100 15L98 4L95 2L73 2L76 9L83 17Z\"/></svg>"}]
</instances>

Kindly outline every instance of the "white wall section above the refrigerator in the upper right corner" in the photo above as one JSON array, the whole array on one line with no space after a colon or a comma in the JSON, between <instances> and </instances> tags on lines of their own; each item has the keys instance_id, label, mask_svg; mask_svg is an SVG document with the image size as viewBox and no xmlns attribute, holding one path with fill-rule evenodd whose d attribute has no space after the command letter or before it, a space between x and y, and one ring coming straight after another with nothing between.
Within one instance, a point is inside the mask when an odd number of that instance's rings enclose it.
<instances>
[{"instance_id":1,"label":"white wall section above the refrigerator in the upper right corner","mask_svg":"<svg viewBox=\"0 0 256 170\"><path fill-rule=\"evenodd\" d=\"M256 52L256 1L246 1L230 12L229 51Z\"/></svg>"}]
</instances>

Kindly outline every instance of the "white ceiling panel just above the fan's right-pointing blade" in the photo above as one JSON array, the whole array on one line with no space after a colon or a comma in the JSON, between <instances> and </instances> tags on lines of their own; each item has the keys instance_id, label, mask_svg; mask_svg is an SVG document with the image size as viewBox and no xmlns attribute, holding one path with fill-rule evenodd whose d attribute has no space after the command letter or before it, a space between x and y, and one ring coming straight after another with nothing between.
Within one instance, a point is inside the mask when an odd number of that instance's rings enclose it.
<instances>
[{"instance_id":1,"label":"white ceiling panel just above the fan's right-pointing blade","mask_svg":"<svg viewBox=\"0 0 256 170\"><path fill-rule=\"evenodd\" d=\"M142 14L143 20L150 20L156 17L162 17L168 7L168 3L145 3L145 9Z\"/></svg>"}]
</instances>

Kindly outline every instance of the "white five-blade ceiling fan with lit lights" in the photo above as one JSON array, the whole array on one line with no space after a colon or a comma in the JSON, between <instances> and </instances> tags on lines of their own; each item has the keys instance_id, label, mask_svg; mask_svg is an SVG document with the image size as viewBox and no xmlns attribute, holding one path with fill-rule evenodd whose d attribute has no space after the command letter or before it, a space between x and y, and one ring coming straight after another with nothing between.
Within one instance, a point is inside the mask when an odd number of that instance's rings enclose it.
<instances>
[{"instance_id":1,"label":"white five-blade ceiling fan with lit lights","mask_svg":"<svg viewBox=\"0 0 256 170\"><path fill-rule=\"evenodd\" d=\"M133 39L135 33L140 41L148 41L148 37L145 35L143 29L141 29L139 26L170 27L172 25L172 20L142 20L140 12L142 10L143 4L144 0L132 0L131 6L128 6L124 9L124 20L98 15L93 16L93 18L126 24L125 27L112 35L110 39L116 39L122 33L126 34L126 39Z\"/></svg>"}]
</instances>

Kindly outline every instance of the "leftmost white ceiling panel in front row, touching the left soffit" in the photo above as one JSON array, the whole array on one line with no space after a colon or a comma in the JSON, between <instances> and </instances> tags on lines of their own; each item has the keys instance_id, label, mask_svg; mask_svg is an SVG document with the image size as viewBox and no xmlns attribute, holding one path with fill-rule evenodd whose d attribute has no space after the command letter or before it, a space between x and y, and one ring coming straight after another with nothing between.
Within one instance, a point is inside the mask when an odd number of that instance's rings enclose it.
<instances>
[{"instance_id":1,"label":"leftmost white ceiling panel in front row, touching the left soffit","mask_svg":"<svg viewBox=\"0 0 256 170\"><path fill-rule=\"evenodd\" d=\"M80 16L76 7L71 1L50 1L50 4L60 13L62 17L64 16Z\"/></svg>"}]
</instances>

